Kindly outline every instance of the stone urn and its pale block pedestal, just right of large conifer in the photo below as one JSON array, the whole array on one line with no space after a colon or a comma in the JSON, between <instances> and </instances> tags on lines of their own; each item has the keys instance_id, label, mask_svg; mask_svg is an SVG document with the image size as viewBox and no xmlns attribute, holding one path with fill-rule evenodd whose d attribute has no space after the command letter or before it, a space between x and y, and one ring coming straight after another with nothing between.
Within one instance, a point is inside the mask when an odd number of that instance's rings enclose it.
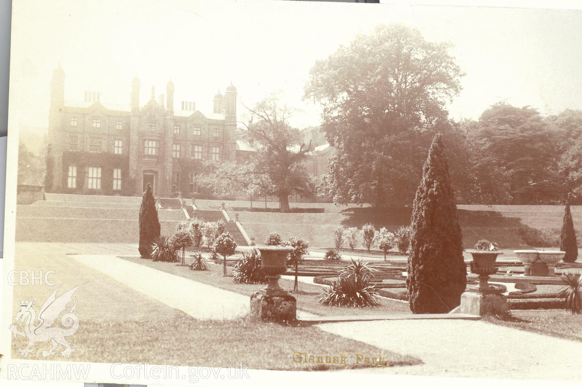
<instances>
[{"instance_id":1,"label":"stone urn and its pale block pedestal, just right of large conifer","mask_svg":"<svg viewBox=\"0 0 582 387\"><path fill-rule=\"evenodd\" d=\"M461 304L457 313L473 314L473 316L487 316L501 314L508 310L507 298L502 295L505 286L490 285L489 275L495 274L495 260L502 254L498 251L469 250L473 256L471 273L479 275L479 284L467 289L461 295Z\"/></svg>"}]
</instances>

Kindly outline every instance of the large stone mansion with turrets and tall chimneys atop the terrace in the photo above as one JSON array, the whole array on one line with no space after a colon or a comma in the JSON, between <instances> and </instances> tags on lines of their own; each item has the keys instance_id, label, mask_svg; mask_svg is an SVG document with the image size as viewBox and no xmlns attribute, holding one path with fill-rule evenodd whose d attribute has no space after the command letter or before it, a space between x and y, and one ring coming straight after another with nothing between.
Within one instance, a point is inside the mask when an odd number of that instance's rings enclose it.
<instances>
[{"instance_id":1,"label":"large stone mansion with turrets and tall chimneys atop the terrace","mask_svg":"<svg viewBox=\"0 0 582 387\"><path fill-rule=\"evenodd\" d=\"M133 78L129 106L100 101L98 92L83 102L65 102L65 71L53 71L49 110L48 192L141 195L150 183L155 196L207 196L196 184L203 160L245 162L256 150L237 139L236 88L214 96L212 113L181 101L174 109L174 85L140 105L140 80ZM165 101L164 101L165 99ZM306 130L304 138L317 137ZM317 145L317 143L315 144ZM310 173L327 171L329 146L321 144L307 160Z\"/></svg>"}]
</instances>

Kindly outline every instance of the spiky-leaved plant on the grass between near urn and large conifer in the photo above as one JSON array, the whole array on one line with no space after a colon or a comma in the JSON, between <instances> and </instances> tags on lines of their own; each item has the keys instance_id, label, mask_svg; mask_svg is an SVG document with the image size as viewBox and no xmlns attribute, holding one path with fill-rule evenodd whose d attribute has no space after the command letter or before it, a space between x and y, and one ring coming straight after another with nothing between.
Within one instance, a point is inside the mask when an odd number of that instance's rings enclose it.
<instances>
[{"instance_id":1,"label":"spiky-leaved plant on the grass between near urn and large conifer","mask_svg":"<svg viewBox=\"0 0 582 387\"><path fill-rule=\"evenodd\" d=\"M377 292L367 280L340 276L317 297L327 306L365 307L378 305Z\"/></svg>"}]
</instances>

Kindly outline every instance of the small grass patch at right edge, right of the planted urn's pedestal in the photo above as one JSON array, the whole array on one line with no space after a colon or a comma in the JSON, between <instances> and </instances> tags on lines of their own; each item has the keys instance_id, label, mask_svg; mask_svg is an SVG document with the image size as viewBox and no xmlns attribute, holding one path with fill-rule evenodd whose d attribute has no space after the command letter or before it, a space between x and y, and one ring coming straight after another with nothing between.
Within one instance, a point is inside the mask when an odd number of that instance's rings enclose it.
<instances>
[{"instance_id":1,"label":"small grass patch at right edge, right of the planted urn's pedestal","mask_svg":"<svg viewBox=\"0 0 582 387\"><path fill-rule=\"evenodd\" d=\"M484 317L484 321L542 335L582 341L582 314L564 309L512 310L506 316Z\"/></svg>"}]
</instances>

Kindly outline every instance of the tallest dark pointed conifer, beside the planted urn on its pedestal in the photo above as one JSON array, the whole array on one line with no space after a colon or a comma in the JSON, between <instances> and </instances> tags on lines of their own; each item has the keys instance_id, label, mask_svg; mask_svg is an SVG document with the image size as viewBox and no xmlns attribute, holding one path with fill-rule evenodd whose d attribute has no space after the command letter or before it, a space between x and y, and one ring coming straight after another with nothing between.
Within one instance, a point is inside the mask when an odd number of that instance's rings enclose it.
<instances>
[{"instance_id":1,"label":"tallest dark pointed conifer, beside the planted urn on its pedestal","mask_svg":"<svg viewBox=\"0 0 582 387\"><path fill-rule=\"evenodd\" d=\"M406 286L413 313L448 313L460 304L467 269L441 135L428 151L414 199Z\"/></svg>"}]
</instances>

